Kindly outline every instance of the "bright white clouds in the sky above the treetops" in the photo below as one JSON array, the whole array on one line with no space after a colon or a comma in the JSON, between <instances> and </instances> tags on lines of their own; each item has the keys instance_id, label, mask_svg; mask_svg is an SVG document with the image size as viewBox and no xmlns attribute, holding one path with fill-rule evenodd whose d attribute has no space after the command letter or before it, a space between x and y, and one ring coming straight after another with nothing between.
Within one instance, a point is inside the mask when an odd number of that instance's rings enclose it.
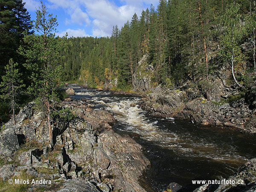
<instances>
[{"instance_id":1,"label":"bright white clouds in the sky above the treetops","mask_svg":"<svg viewBox=\"0 0 256 192\"><path fill-rule=\"evenodd\" d=\"M32 8L35 10L40 4L39 0L25 0L25 2L28 4L26 6L28 10ZM47 7L50 9L61 7L68 15L64 18L67 26L72 24L87 26L92 30L93 36L101 37L111 36L113 26L117 25L121 29L127 20L131 21L135 12L140 17L142 9L149 8L151 3L154 6L158 4L158 0L119 0L123 6L116 6L114 2L116 0L47 0L49 4ZM73 30L72 33L81 31L83 30Z\"/></svg>"}]
</instances>

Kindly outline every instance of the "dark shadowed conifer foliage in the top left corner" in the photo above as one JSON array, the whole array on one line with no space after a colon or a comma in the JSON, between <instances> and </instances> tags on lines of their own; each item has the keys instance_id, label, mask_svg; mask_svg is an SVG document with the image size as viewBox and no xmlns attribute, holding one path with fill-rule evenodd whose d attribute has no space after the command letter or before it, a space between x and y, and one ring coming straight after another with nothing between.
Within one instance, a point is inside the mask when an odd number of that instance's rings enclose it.
<instances>
[{"instance_id":1,"label":"dark shadowed conifer foliage in the top left corner","mask_svg":"<svg viewBox=\"0 0 256 192\"><path fill-rule=\"evenodd\" d=\"M4 67L10 58L19 63L24 58L17 54L17 48L23 44L22 33L32 29L30 15L24 8L22 0L1 0L0 1L0 76L4 73ZM23 67L19 66L23 71ZM25 76L23 77L25 79ZM1 81L1 79L0 79Z\"/></svg>"}]
</instances>

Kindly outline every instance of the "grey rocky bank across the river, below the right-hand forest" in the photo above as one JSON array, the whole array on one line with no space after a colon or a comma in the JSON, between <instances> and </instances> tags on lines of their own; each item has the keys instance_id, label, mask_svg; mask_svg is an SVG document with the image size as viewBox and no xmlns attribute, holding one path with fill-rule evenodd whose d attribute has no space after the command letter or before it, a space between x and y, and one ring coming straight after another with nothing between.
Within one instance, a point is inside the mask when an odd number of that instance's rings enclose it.
<instances>
[{"instance_id":1,"label":"grey rocky bank across the river, below the right-hand forest","mask_svg":"<svg viewBox=\"0 0 256 192\"><path fill-rule=\"evenodd\" d=\"M193 93L194 99L191 100L191 91L191 89L186 91L163 90L158 86L152 90L152 93L142 98L141 107L161 118L189 119L191 122L202 125L221 126L238 129L241 132L256 133L256 110L252 106L254 100L250 101L250 99L244 98L244 95L239 92L234 92L226 99L221 99L219 95L219 99L211 101L202 96L196 97L196 94Z\"/></svg>"}]
</instances>

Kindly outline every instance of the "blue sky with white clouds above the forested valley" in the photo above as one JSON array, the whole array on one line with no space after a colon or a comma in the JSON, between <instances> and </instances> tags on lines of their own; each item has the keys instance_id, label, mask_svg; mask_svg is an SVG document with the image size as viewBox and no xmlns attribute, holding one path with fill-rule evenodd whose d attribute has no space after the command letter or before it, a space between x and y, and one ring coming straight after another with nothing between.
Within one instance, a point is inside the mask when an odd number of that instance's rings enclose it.
<instances>
[{"instance_id":1,"label":"blue sky with white clouds above the forested valley","mask_svg":"<svg viewBox=\"0 0 256 192\"><path fill-rule=\"evenodd\" d=\"M23 0L25 7L36 19L35 11L40 0ZM103 37L111 36L112 28L123 24L136 14L140 17L142 10L150 9L152 3L157 7L158 0L43 0L48 12L57 15L58 33L68 37Z\"/></svg>"}]
</instances>

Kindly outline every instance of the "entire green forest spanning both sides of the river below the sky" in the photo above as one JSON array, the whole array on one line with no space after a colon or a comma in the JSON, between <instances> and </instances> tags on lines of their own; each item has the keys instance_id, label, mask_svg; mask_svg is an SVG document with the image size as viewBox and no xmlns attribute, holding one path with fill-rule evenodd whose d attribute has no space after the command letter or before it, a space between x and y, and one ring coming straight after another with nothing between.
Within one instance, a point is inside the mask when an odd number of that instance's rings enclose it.
<instances>
[{"instance_id":1,"label":"entire green forest spanning both sides of the river below the sky","mask_svg":"<svg viewBox=\"0 0 256 192\"><path fill-rule=\"evenodd\" d=\"M37 14L40 19L42 11ZM50 18L56 27L56 17ZM47 32L30 21L22 0L0 1L0 81L8 80L13 66L12 78L20 80L17 106L28 98L51 101L54 86L65 81L132 89L143 57L153 69L154 86L174 88L190 80L201 83L207 95L213 76L230 71L234 84L255 89L255 0L159 0L157 7L151 5L140 17L134 13L121 29L113 26L112 35L101 38L59 38L54 28ZM244 42L251 46L243 49ZM3 95L1 119L9 103Z\"/></svg>"}]
</instances>

